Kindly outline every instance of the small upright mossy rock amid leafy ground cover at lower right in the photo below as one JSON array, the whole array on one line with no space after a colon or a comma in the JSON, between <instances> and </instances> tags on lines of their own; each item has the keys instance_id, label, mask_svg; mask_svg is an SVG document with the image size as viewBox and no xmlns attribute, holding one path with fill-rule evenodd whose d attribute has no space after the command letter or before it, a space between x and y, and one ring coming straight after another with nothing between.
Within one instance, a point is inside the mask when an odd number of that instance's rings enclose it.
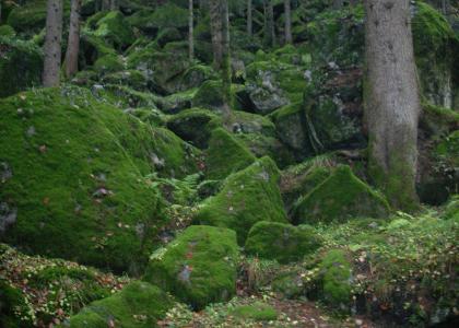
<instances>
[{"instance_id":1,"label":"small upright mossy rock amid leafy ground cover at lower right","mask_svg":"<svg viewBox=\"0 0 459 328\"><path fill-rule=\"evenodd\" d=\"M352 270L346 254L341 249L329 250L320 262L322 297L331 306L348 308L351 300Z\"/></svg>"}]
</instances>

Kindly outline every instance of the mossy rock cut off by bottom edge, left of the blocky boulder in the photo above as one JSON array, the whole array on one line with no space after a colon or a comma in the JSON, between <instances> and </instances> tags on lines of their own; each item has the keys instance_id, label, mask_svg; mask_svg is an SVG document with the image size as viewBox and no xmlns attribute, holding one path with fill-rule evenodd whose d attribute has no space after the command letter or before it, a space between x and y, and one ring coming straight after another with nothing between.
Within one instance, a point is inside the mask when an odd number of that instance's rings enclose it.
<instances>
[{"instance_id":1,"label":"mossy rock cut off by bottom edge, left of the blocky boulder","mask_svg":"<svg viewBox=\"0 0 459 328\"><path fill-rule=\"evenodd\" d=\"M87 305L70 318L71 328L157 327L157 320L173 306L173 300L157 286L131 282L121 292Z\"/></svg>"}]
</instances>

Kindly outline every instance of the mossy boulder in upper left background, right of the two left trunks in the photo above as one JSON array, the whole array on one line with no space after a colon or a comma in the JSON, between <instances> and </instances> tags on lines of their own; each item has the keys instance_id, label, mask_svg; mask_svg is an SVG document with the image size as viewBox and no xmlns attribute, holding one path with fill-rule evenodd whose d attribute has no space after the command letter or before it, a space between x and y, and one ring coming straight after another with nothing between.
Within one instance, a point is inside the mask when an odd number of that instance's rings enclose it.
<instances>
[{"instance_id":1,"label":"mossy boulder in upper left background, right of the two left trunks","mask_svg":"<svg viewBox=\"0 0 459 328\"><path fill-rule=\"evenodd\" d=\"M119 11L111 11L102 17L96 23L94 35L116 48L126 48L134 42L132 28Z\"/></svg>"}]
</instances>

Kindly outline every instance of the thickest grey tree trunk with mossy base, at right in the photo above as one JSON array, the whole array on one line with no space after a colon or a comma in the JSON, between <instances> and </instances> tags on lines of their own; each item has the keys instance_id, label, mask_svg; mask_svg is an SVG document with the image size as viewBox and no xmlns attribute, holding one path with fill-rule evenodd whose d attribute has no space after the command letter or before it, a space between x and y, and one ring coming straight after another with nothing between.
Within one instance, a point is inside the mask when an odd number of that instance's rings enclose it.
<instances>
[{"instance_id":1,"label":"thickest grey tree trunk with mossy base, at right","mask_svg":"<svg viewBox=\"0 0 459 328\"><path fill-rule=\"evenodd\" d=\"M409 0L366 0L369 174L395 208L416 208L420 96Z\"/></svg>"}]
</instances>

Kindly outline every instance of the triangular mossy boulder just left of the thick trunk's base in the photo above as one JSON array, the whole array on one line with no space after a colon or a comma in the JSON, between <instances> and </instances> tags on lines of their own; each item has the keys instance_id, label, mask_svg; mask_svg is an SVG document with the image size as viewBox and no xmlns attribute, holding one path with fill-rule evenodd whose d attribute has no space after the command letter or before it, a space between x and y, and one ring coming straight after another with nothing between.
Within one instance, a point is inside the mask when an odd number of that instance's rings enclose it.
<instances>
[{"instance_id":1,"label":"triangular mossy boulder just left of the thick trunk's base","mask_svg":"<svg viewBox=\"0 0 459 328\"><path fill-rule=\"evenodd\" d=\"M346 165L339 166L320 185L301 198L294 218L301 223L345 221L356 216L384 218L387 200L358 179Z\"/></svg>"}]
</instances>

